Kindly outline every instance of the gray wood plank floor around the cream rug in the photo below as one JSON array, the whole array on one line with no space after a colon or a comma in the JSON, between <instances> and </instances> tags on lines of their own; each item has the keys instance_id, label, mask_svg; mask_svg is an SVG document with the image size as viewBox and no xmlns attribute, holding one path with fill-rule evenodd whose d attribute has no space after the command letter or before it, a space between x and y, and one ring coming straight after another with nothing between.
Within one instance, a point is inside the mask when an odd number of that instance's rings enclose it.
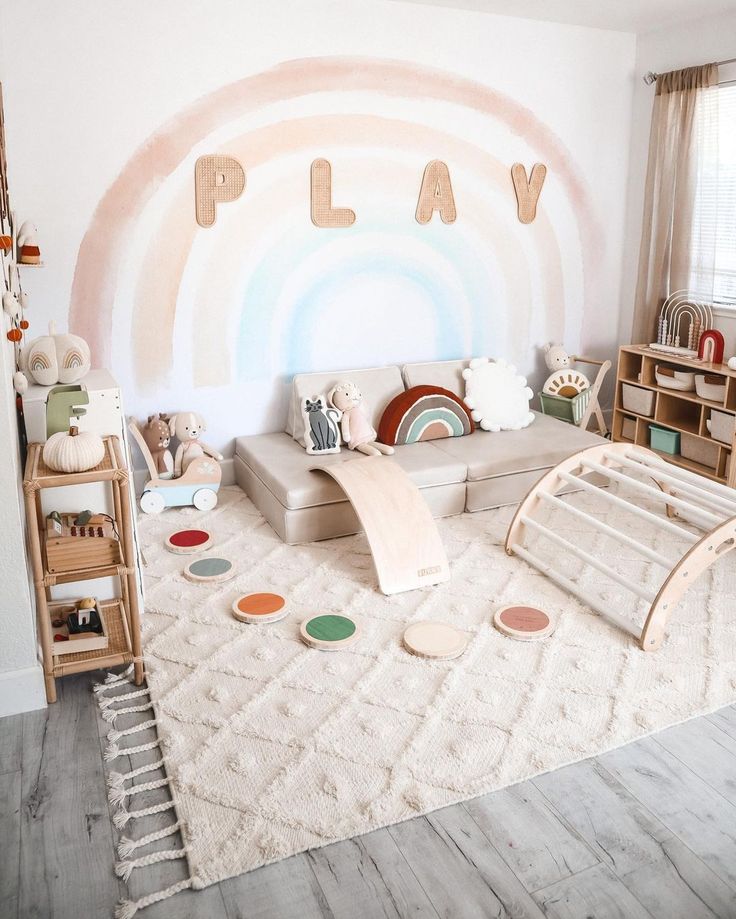
<instances>
[{"instance_id":1,"label":"gray wood plank floor around the cream rug","mask_svg":"<svg viewBox=\"0 0 736 919\"><path fill-rule=\"evenodd\" d=\"M109 725L90 691L99 678L66 678L47 711L0 719L0 919L108 919L126 896L113 872ZM146 792L134 806L160 800ZM150 832L171 818L146 819ZM134 872L133 898L185 866L154 870ZM736 919L736 707L141 916Z\"/></svg>"}]
</instances>

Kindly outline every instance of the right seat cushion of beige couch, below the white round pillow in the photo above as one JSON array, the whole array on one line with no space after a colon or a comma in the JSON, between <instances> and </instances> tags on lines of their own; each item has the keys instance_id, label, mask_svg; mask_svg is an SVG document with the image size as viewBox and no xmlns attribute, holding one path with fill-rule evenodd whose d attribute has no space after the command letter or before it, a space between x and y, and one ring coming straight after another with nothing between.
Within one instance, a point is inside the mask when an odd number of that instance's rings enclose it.
<instances>
[{"instance_id":1,"label":"right seat cushion of beige couch, below the white round pillow","mask_svg":"<svg viewBox=\"0 0 736 919\"><path fill-rule=\"evenodd\" d=\"M546 469L586 447L603 443L603 438L549 415L534 413L528 428L521 431L477 430L469 437L437 440L433 446L468 467L468 481L492 476Z\"/></svg>"}]
</instances>

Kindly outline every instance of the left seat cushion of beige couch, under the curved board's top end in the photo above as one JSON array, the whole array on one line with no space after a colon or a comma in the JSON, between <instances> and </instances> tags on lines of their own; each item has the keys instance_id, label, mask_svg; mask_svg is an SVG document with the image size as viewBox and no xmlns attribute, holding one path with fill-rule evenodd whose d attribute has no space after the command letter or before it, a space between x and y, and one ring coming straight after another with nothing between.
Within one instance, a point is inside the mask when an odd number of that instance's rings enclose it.
<instances>
[{"instance_id":1,"label":"left seat cushion of beige couch, under the curved board's top end","mask_svg":"<svg viewBox=\"0 0 736 919\"><path fill-rule=\"evenodd\" d=\"M235 452L281 504L292 509L344 501L345 493L340 486L329 476L311 472L310 467L351 462L363 456L344 447L340 453L310 456L288 434L238 437ZM465 463L429 443L397 447L394 456L386 459L392 461L419 488L464 482L467 473Z\"/></svg>"}]
</instances>

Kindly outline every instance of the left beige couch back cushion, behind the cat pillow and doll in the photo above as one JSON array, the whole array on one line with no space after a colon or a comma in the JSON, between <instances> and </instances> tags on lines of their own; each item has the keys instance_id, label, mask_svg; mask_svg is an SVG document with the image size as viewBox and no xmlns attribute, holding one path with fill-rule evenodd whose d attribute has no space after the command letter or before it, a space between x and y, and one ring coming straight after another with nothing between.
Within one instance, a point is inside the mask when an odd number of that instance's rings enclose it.
<instances>
[{"instance_id":1,"label":"left beige couch back cushion, behind the cat pillow and doll","mask_svg":"<svg viewBox=\"0 0 736 919\"><path fill-rule=\"evenodd\" d=\"M373 427L378 430L383 410L398 393L404 391L401 371L396 366L374 367L370 370L335 370L328 373L298 373L292 382L291 406L286 420L286 433L304 447L304 425L301 402L311 396L328 393L340 380L352 380L360 387Z\"/></svg>"}]
</instances>

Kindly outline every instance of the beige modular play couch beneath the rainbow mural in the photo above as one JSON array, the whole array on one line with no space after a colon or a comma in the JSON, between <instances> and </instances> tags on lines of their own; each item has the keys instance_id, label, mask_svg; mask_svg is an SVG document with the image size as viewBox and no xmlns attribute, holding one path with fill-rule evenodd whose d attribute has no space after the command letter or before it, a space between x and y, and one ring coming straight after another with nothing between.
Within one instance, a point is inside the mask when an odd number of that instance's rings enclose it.
<instances>
[{"instance_id":1,"label":"beige modular play couch beneath the rainbow mural","mask_svg":"<svg viewBox=\"0 0 736 919\"><path fill-rule=\"evenodd\" d=\"M467 361L442 361L297 375L286 431L236 440L238 484L286 543L358 532L360 524L343 491L310 467L351 462L363 454L343 447L339 454L310 456L303 446L301 401L327 392L340 379L354 380L378 428L391 399L410 386L442 386L462 397L466 366ZM406 444L387 461L404 469L435 517L447 517L515 504L546 469L597 443L601 438L596 434L537 414L522 431L478 429L465 437Z\"/></svg>"}]
</instances>

